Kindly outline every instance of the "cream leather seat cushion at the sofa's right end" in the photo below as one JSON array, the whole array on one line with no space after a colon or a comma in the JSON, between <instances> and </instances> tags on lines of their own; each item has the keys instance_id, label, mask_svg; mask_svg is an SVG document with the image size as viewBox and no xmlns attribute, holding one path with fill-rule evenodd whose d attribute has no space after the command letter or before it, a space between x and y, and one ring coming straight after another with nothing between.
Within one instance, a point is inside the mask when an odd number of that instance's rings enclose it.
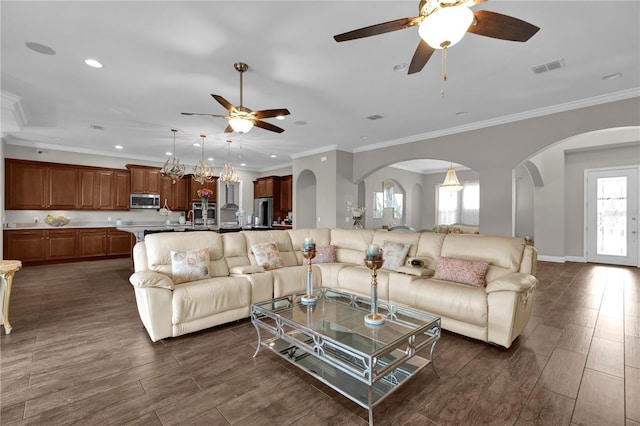
<instances>
[{"instance_id":1,"label":"cream leather seat cushion at the sofa's right end","mask_svg":"<svg viewBox=\"0 0 640 426\"><path fill-rule=\"evenodd\" d=\"M411 282L410 307L474 324L487 325L487 292L484 288L435 279Z\"/></svg>"}]
</instances>

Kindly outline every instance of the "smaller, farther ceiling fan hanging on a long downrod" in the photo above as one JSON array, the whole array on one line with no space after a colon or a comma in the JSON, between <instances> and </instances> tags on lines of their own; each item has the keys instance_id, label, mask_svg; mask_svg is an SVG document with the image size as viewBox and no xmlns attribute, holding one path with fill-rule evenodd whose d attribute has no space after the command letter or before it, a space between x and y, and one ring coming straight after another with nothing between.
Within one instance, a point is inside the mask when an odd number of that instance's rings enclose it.
<instances>
[{"instance_id":1,"label":"smaller, farther ceiling fan hanging on a long downrod","mask_svg":"<svg viewBox=\"0 0 640 426\"><path fill-rule=\"evenodd\" d=\"M240 105L234 106L231 102L227 101L220 95L211 96L218 101L220 105L222 105L227 111L229 111L229 115L216 115L216 114L204 114L197 112L183 112L182 115L207 115L210 117L220 117L228 120L229 125L224 130L225 133L237 132L237 133L247 133L253 126L263 128L265 130L270 130L276 133L284 132L284 129L274 126L271 123L267 123L262 121L263 118L272 118L272 117L282 117L285 115L289 115L289 110L286 108L279 109L265 109L261 111L252 111L249 108L242 105L242 74L245 73L249 69L249 65L243 62L236 62L233 64L233 67L240 73Z\"/></svg>"}]
</instances>

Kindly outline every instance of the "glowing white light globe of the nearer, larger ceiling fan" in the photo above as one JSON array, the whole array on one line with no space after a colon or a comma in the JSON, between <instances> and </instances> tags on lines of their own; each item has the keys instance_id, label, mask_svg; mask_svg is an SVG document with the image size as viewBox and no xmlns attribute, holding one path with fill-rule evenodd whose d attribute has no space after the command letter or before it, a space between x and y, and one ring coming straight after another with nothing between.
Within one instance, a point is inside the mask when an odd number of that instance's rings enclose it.
<instances>
[{"instance_id":1,"label":"glowing white light globe of the nearer, larger ceiling fan","mask_svg":"<svg viewBox=\"0 0 640 426\"><path fill-rule=\"evenodd\" d=\"M451 6L436 10L418 27L418 34L434 49L453 46L464 37L473 22L473 12L467 6Z\"/></svg>"}]
</instances>

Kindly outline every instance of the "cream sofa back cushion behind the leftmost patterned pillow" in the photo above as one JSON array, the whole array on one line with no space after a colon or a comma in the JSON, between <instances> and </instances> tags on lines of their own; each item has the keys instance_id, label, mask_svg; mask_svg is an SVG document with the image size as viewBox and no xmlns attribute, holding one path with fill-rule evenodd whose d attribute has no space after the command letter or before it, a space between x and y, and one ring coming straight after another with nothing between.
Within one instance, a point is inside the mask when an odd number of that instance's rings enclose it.
<instances>
[{"instance_id":1,"label":"cream sofa back cushion behind the leftmost patterned pillow","mask_svg":"<svg viewBox=\"0 0 640 426\"><path fill-rule=\"evenodd\" d=\"M224 259L222 237L217 232L161 232L149 234L144 239L148 268L171 278L171 251L206 248L209 250L209 274L226 277L229 268Z\"/></svg>"}]
</instances>

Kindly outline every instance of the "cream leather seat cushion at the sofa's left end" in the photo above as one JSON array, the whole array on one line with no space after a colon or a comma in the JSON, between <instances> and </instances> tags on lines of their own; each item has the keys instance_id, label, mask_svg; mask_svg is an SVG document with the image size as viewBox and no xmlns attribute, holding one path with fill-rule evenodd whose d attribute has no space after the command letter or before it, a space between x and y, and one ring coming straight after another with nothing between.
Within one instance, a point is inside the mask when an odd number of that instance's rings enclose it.
<instances>
[{"instance_id":1,"label":"cream leather seat cushion at the sofa's left end","mask_svg":"<svg viewBox=\"0 0 640 426\"><path fill-rule=\"evenodd\" d=\"M176 285L172 323L194 321L251 305L251 284L243 277L219 277Z\"/></svg>"}]
</instances>

